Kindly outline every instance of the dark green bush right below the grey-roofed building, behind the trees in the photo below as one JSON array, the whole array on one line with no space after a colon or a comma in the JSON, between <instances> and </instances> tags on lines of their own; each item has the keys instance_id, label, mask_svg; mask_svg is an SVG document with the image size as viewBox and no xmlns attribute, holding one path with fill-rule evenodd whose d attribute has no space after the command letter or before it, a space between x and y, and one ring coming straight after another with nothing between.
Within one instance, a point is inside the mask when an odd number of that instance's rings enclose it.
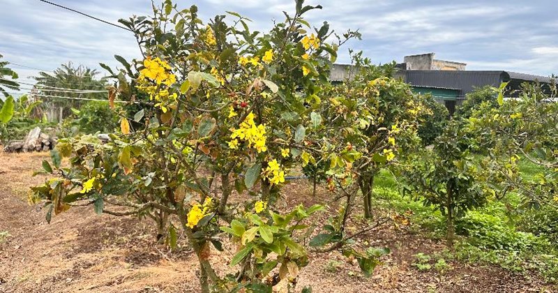
<instances>
[{"instance_id":1,"label":"dark green bush right below the grey-roofed building, behind the trees","mask_svg":"<svg viewBox=\"0 0 558 293\"><path fill-rule=\"evenodd\" d=\"M424 105L429 110L420 117L421 124L418 126L418 137L421 137L423 145L434 143L436 137L442 134L448 121L449 112L446 106L438 103L432 96L424 96Z\"/></svg>"}]
</instances>

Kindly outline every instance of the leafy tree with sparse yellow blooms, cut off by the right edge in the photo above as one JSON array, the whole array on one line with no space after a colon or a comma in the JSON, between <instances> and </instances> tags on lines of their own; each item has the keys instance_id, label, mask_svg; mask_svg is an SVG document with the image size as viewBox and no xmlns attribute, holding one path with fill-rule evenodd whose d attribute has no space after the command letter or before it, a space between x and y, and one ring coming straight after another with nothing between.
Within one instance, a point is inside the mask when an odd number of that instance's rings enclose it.
<instances>
[{"instance_id":1,"label":"leafy tree with sparse yellow blooms, cut off by the right edge","mask_svg":"<svg viewBox=\"0 0 558 293\"><path fill-rule=\"evenodd\" d=\"M523 195L524 207L558 209L556 84L525 83L518 98L505 101L504 87L495 98L499 107L485 104L472 111L467 129L478 137L493 162L492 170L502 177L495 186L502 196L513 190ZM532 180L519 176L520 158L541 166L543 172Z\"/></svg>"}]
</instances>

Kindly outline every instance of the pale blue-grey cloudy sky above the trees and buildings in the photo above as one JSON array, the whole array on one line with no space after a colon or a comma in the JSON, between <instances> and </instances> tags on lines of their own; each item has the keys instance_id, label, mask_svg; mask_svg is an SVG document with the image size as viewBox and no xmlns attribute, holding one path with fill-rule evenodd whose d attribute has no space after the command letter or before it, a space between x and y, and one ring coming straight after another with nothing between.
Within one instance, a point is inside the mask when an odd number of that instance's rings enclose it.
<instances>
[{"instance_id":1,"label":"pale blue-grey cloudy sky above the trees and buildings","mask_svg":"<svg viewBox=\"0 0 558 293\"><path fill-rule=\"evenodd\" d=\"M146 0L52 1L115 23L133 14L149 14L151 9L151 1ZM289 0L174 2L181 8L195 3L206 21L232 10L252 19L256 29L269 29L273 20L283 19L282 10L294 10L294 1ZM324 6L306 15L316 27L327 20L338 32L360 29L363 34L363 40L342 48L338 59L342 63L349 61L350 47L363 50L375 63L435 52L437 59L465 62L469 70L558 73L556 0L307 2ZM52 70L68 61L91 68L100 68L99 62L116 66L114 54L132 59L139 57L139 50L123 29L38 0L0 0L0 54L6 61ZM37 73L12 67L22 80Z\"/></svg>"}]
</instances>

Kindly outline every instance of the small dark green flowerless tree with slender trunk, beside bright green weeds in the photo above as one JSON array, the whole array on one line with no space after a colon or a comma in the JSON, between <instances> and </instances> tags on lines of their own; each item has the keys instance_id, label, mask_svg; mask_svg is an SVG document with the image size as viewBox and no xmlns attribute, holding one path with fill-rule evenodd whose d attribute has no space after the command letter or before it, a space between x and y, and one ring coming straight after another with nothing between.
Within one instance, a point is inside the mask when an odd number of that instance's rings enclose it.
<instances>
[{"instance_id":1,"label":"small dark green flowerless tree with slender trunk, beside bright green weeds","mask_svg":"<svg viewBox=\"0 0 558 293\"><path fill-rule=\"evenodd\" d=\"M481 170L471 154L474 143L467 137L464 124L460 120L448 123L434 149L425 149L403 172L403 192L425 206L437 206L446 217L448 247L453 247L455 219L483 206L490 195L483 181L478 180Z\"/></svg>"}]
</instances>

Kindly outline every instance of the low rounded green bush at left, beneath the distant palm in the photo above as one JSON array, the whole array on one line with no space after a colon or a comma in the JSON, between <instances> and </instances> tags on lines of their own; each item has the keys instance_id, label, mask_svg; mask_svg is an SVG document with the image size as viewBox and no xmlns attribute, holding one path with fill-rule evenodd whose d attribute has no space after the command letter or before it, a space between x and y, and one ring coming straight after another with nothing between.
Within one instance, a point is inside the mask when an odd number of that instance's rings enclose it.
<instances>
[{"instance_id":1,"label":"low rounded green bush at left, beneath the distant palm","mask_svg":"<svg viewBox=\"0 0 558 293\"><path fill-rule=\"evenodd\" d=\"M118 127L119 117L106 102L91 100L80 110L73 109L73 112L75 117L66 123L70 128L74 128L73 131L70 131L73 135L76 132L84 134L112 133L114 128Z\"/></svg>"}]
</instances>

